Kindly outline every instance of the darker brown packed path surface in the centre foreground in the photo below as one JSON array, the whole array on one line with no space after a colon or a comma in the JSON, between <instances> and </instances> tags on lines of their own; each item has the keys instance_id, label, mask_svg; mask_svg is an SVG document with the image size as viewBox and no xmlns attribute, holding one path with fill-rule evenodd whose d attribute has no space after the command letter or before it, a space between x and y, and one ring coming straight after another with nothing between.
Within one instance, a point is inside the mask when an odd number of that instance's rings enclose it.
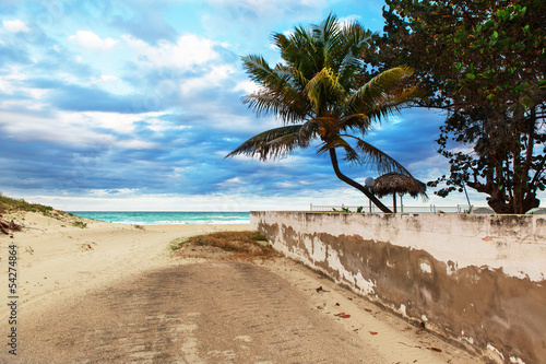
<instances>
[{"instance_id":1,"label":"darker brown packed path surface in the centre foreground","mask_svg":"<svg viewBox=\"0 0 546 364\"><path fill-rule=\"evenodd\" d=\"M25 363L382 363L307 306L297 289L259 266L185 265L56 309L22 343L32 348Z\"/></svg>"}]
</instances>

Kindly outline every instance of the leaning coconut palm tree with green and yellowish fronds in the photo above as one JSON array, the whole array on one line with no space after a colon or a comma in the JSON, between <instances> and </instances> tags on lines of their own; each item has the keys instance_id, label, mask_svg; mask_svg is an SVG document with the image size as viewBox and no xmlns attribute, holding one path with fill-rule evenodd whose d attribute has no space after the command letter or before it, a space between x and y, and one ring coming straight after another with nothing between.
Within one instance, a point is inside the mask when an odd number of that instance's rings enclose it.
<instances>
[{"instance_id":1,"label":"leaning coconut palm tree with green and yellowish fronds","mask_svg":"<svg viewBox=\"0 0 546 364\"><path fill-rule=\"evenodd\" d=\"M417 97L401 81L412 74L407 67L387 70L357 86L366 68L359 56L369 47L372 33L360 24L343 24L335 15L294 34L273 34L283 61L271 68L261 56L242 57L250 79L260 89L242 102L257 116L274 115L283 126L250 138L226 157L245 154L260 160L284 157L314 140L319 154L329 153L337 178L364 192L383 212L391 212L368 189L340 172L336 150L344 160L375 165L379 173L411 174L396 161L361 139L385 116Z\"/></svg>"}]
</instances>

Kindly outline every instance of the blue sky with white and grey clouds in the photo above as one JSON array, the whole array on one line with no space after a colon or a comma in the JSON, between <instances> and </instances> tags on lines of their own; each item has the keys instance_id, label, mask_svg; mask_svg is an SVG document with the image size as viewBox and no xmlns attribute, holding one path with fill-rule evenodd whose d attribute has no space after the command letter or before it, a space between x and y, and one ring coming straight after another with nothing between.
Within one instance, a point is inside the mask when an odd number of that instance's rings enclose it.
<instances>
[{"instance_id":1,"label":"blue sky with white and grey clouds","mask_svg":"<svg viewBox=\"0 0 546 364\"><path fill-rule=\"evenodd\" d=\"M69 211L307 210L367 206L313 148L277 162L225 158L280 126L241 97L240 57L274 64L273 32L329 13L381 32L377 0L2 0L0 191ZM406 109L366 140L428 181L447 174L444 116ZM363 183L376 171L341 165ZM466 204L464 193L405 206ZM468 190L475 206L485 195ZM385 198L385 203L391 199Z\"/></svg>"}]
</instances>

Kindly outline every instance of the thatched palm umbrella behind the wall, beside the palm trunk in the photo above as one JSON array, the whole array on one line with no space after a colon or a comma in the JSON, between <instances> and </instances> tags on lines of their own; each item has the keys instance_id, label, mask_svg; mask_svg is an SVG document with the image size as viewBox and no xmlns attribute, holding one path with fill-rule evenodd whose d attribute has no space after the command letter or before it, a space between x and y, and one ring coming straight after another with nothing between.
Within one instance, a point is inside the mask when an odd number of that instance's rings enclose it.
<instances>
[{"instance_id":1,"label":"thatched palm umbrella behind the wall, beside the palm trunk","mask_svg":"<svg viewBox=\"0 0 546 364\"><path fill-rule=\"evenodd\" d=\"M411 197L423 196L428 199L425 192L427 185L413 177L401 175L400 173L388 173L376 178L373 183L373 192L378 197L384 197L392 193L394 212L396 212L396 193L410 193Z\"/></svg>"}]
</instances>

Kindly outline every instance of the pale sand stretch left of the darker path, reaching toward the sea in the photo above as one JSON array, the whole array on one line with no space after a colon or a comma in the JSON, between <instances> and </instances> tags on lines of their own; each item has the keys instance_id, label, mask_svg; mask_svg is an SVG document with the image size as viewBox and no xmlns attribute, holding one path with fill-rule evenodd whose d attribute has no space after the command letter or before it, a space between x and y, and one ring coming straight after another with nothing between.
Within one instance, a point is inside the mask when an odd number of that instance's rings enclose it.
<instances>
[{"instance_id":1,"label":"pale sand stretch left of the darker path, reaching toward the sea","mask_svg":"<svg viewBox=\"0 0 546 364\"><path fill-rule=\"evenodd\" d=\"M31 227L13 239L0 236L0 268L8 271L8 244L19 247L20 308L38 310L58 300L73 301L149 269L174 263L168 243L177 237L221 230L248 230L248 225L132 225L86 220L80 228L40 214L27 213ZM7 279L7 273L3 274ZM0 308L0 320L8 315Z\"/></svg>"}]
</instances>

